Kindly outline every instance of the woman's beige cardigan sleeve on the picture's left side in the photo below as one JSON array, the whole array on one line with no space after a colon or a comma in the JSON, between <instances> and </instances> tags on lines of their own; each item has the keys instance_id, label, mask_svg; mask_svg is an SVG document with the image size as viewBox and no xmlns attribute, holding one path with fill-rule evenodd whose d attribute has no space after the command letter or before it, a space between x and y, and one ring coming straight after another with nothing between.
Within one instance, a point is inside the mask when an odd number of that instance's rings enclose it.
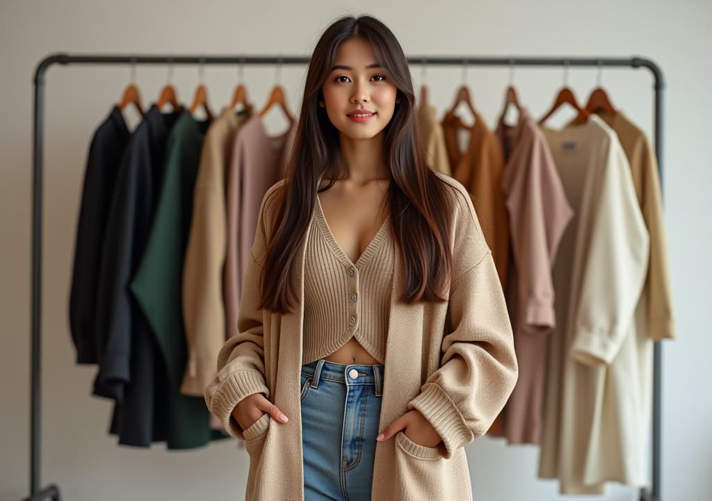
<instances>
[{"instance_id":1,"label":"woman's beige cardigan sleeve on the picture's left side","mask_svg":"<svg viewBox=\"0 0 712 501\"><path fill-rule=\"evenodd\" d=\"M248 260L243 277L237 316L238 332L220 348L217 375L204 391L210 412L222 421L231 436L240 440L244 440L243 430L232 418L235 406L254 393L263 393L266 398L270 397L264 376L263 311L258 309L258 302L261 259L266 240L264 212L266 201L276 186L266 192L258 213L257 231L250 250L251 259Z\"/></svg>"}]
</instances>

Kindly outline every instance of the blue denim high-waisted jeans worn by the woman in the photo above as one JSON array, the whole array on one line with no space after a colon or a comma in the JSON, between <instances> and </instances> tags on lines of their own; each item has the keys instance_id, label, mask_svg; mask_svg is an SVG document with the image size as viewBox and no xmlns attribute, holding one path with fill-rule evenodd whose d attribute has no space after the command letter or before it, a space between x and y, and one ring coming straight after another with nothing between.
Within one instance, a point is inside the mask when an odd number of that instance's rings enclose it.
<instances>
[{"instance_id":1,"label":"blue denim high-waisted jeans worn by the woman","mask_svg":"<svg viewBox=\"0 0 712 501\"><path fill-rule=\"evenodd\" d=\"M383 366L302 366L305 501L371 499Z\"/></svg>"}]
</instances>

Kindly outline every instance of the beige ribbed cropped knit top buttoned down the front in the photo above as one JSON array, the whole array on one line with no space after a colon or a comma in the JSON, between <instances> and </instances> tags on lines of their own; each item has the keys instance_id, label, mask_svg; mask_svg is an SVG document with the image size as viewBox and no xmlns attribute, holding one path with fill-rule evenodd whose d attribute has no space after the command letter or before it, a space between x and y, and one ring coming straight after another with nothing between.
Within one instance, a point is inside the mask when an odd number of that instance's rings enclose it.
<instances>
[{"instance_id":1,"label":"beige ribbed cropped knit top buttoned down the front","mask_svg":"<svg viewBox=\"0 0 712 501\"><path fill-rule=\"evenodd\" d=\"M302 363L330 355L355 339L384 363L394 269L387 217L355 263L337 244L319 197L305 249Z\"/></svg>"}]
</instances>

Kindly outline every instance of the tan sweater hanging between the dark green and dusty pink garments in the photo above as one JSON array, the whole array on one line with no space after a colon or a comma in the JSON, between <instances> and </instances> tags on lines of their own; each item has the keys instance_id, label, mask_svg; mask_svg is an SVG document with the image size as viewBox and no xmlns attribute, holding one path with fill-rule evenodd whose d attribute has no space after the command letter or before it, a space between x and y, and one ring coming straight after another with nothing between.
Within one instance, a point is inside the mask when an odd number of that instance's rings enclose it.
<instances>
[{"instance_id":1,"label":"tan sweater hanging between the dark green and dusty pink garments","mask_svg":"<svg viewBox=\"0 0 712 501\"><path fill-rule=\"evenodd\" d=\"M225 343L222 279L225 262L225 172L236 131L250 113L226 108L210 125L193 192L193 215L183 264L183 320L188 363L181 392L202 396L215 377Z\"/></svg>"}]
</instances>

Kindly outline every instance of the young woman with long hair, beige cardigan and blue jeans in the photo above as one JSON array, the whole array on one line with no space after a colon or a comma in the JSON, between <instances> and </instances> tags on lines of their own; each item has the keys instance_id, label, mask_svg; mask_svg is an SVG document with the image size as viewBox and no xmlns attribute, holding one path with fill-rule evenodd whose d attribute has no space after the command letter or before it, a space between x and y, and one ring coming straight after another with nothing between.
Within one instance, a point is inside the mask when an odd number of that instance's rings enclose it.
<instances>
[{"instance_id":1,"label":"young woman with long hair, beige cardigan and blue jeans","mask_svg":"<svg viewBox=\"0 0 712 501\"><path fill-rule=\"evenodd\" d=\"M246 499L470 499L463 446L512 391L511 326L468 193L426 167L407 60L377 19L317 43L251 257L205 392L246 441Z\"/></svg>"}]
</instances>

